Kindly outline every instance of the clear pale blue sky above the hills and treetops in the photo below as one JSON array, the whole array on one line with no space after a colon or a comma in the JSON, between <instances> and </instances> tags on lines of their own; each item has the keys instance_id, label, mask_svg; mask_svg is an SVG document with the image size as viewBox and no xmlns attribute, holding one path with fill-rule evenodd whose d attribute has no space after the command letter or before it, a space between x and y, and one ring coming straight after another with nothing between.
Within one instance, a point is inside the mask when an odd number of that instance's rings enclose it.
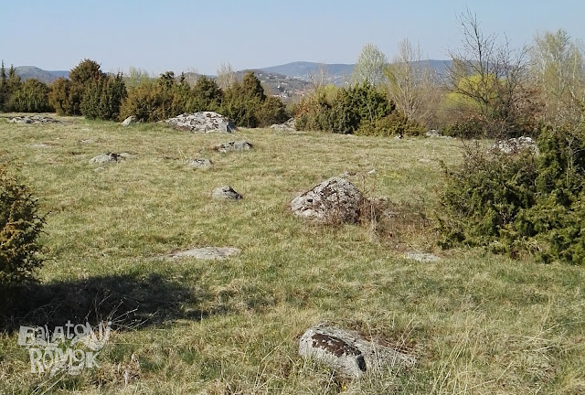
<instances>
[{"instance_id":1,"label":"clear pale blue sky above the hills and treetops","mask_svg":"<svg viewBox=\"0 0 585 395\"><path fill-rule=\"evenodd\" d=\"M485 33L516 46L559 28L585 38L583 0L0 0L0 59L48 70L93 59L112 72L215 74L222 63L355 63L368 43L392 59L403 38L427 59L449 59L467 9Z\"/></svg>"}]
</instances>

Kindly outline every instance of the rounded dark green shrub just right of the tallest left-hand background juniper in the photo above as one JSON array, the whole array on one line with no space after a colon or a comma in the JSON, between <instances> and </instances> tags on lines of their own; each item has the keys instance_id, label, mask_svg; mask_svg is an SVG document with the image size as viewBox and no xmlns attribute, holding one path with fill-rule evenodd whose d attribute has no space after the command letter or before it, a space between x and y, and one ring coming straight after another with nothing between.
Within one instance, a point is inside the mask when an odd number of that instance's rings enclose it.
<instances>
[{"instance_id":1,"label":"rounded dark green shrub just right of the tallest left-hand background juniper","mask_svg":"<svg viewBox=\"0 0 585 395\"><path fill-rule=\"evenodd\" d=\"M90 80L81 99L81 113L89 119L118 120L120 106L126 97L122 74Z\"/></svg>"}]
</instances>

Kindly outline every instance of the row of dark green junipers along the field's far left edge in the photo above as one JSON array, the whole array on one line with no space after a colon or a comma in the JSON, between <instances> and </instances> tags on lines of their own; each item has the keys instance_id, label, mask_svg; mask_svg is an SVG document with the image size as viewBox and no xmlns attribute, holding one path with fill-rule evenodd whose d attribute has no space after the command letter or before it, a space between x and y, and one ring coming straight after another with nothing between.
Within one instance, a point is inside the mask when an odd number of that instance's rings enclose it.
<instances>
[{"instance_id":1,"label":"row of dark green junipers along the field's far left edge","mask_svg":"<svg viewBox=\"0 0 585 395\"><path fill-rule=\"evenodd\" d=\"M4 112L57 112L89 119L121 121L134 116L139 121L161 121L184 112L220 112L239 126L261 127L288 118L280 98L267 95L252 71L242 80L200 76L192 83L181 74L167 71L157 79L131 80L126 86L122 73L101 71L95 60L83 59L50 85L29 79L24 82L11 67L0 70L0 110Z\"/></svg>"}]
</instances>

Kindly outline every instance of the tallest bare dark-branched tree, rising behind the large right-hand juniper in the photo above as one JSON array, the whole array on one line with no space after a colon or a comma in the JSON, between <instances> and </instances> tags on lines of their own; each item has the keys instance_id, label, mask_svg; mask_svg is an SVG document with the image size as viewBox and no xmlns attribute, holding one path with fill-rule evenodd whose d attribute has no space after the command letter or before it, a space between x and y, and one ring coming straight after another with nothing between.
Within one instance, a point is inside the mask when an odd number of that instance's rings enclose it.
<instances>
[{"instance_id":1,"label":"tallest bare dark-branched tree, rising behind the large right-hand juniper","mask_svg":"<svg viewBox=\"0 0 585 395\"><path fill-rule=\"evenodd\" d=\"M519 101L527 85L527 47L511 48L507 37L484 35L477 16L469 10L460 16L462 48L450 51L452 66L448 88L452 97L471 103L487 133L516 133Z\"/></svg>"}]
</instances>

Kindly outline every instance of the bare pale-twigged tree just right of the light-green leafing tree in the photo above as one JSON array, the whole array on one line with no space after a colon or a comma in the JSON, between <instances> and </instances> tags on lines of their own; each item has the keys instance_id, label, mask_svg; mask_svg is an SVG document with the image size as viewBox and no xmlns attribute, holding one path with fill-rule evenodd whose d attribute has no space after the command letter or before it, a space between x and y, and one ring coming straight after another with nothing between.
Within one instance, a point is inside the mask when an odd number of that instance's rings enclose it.
<instances>
[{"instance_id":1,"label":"bare pale-twigged tree just right of the light-green leafing tree","mask_svg":"<svg viewBox=\"0 0 585 395\"><path fill-rule=\"evenodd\" d=\"M399 54L385 71L388 78L388 96L399 111L420 123L429 123L439 89L431 67L423 62L422 51L408 38L399 43Z\"/></svg>"}]
</instances>

